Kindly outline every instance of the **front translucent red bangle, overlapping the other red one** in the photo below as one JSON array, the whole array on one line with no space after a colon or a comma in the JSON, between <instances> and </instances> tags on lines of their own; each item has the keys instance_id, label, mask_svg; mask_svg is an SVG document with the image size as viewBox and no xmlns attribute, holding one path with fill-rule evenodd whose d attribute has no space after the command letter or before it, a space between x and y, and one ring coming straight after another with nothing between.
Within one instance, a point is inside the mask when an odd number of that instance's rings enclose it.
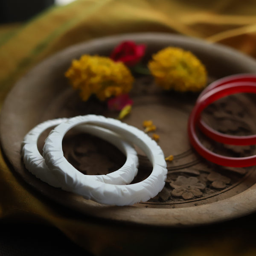
<instances>
[{"instance_id":1,"label":"front translucent red bangle, overlapping the other red one","mask_svg":"<svg viewBox=\"0 0 256 256\"><path fill-rule=\"evenodd\" d=\"M188 122L188 134L191 145L195 150L205 159L219 164L221 166L230 167L247 167L256 165L256 156L250 157L225 157L220 154L213 153L209 149L205 148L200 142L196 134L196 124L200 119L201 112L210 105L212 102L235 93L256 93L256 85L240 83L230 86L230 84L224 84L221 87L216 87L209 92L205 93L198 99L197 104L193 108Z\"/></svg>"}]
</instances>

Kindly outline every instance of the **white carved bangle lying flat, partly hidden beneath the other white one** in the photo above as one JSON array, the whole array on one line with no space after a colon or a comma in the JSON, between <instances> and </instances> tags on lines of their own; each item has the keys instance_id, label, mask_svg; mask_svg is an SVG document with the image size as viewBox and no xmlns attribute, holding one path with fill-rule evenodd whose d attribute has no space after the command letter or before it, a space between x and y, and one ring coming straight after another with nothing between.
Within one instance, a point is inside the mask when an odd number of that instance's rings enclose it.
<instances>
[{"instance_id":1,"label":"white carved bangle lying flat, partly hidden beneath the other white one","mask_svg":"<svg viewBox=\"0 0 256 256\"><path fill-rule=\"evenodd\" d=\"M31 131L23 139L22 143L22 157L25 163L26 169L34 174L37 178L48 183L51 186L61 187L61 181L49 171L45 164L44 158L38 151L37 141L39 136L47 128L59 125L62 122L67 121L67 118L53 119L43 122ZM76 130L86 132L96 137L100 137L103 140L115 145L123 154L126 155L125 164L115 172L111 172L107 175L84 175L88 179L94 179L100 182L111 184L128 184L137 175L138 157L135 149L127 142L122 140L118 134L106 130L104 128L92 126L92 125L80 125L76 127ZM82 174L83 175L83 174Z\"/></svg>"}]
</instances>

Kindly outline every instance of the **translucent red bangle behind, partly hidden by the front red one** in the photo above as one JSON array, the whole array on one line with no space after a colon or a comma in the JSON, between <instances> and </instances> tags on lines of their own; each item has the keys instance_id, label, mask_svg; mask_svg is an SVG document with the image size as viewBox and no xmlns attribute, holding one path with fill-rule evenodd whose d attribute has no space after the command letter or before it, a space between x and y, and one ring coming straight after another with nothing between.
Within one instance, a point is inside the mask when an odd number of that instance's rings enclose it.
<instances>
[{"instance_id":1,"label":"translucent red bangle behind, partly hidden by the front red one","mask_svg":"<svg viewBox=\"0 0 256 256\"><path fill-rule=\"evenodd\" d=\"M210 90L212 90L214 88L220 87L224 84L229 84L229 86L231 87L234 85L240 85L241 83L248 84L248 82L256 84L256 75L240 74L240 75L227 76L223 79L219 79L219 80L213 82L212 84L209 84L209 86L206 87L202 91L202 93L198 97L197 102L207 92L209 92ZM226 143L226 144L232 144L232 145L254 145L254 144L256 144L256 135L234 136L234 135L222 134L218 131L215 131L211 127L209 127L209 125L207 125L201 119L198 120L198 127L205 135L210 137L212 140L218 141L220 143Z\"/></svg>"}]
</instances>

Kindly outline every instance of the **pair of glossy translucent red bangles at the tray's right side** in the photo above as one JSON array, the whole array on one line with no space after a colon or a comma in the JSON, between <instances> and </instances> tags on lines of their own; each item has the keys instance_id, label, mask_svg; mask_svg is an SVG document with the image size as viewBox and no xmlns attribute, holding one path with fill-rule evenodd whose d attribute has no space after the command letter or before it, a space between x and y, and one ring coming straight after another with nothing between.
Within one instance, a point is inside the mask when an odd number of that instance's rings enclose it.
<instances>
[{"instance_id":1,"label":"pair of glossy translucent red bangles at the tray's right side","mask_svg":"<svg viewBox=\"0 0 256 256\"><path fill-rule=\"evenodd\" d=\"M232 145L256 144L256 135L233 136L221 134L210 128L201 119L201 112L212 102L235 93L256 93L256 75L241 74L228 76L209 84L199 95L188 122L189 140L195 150L205 159L221 166L247 167L256 165L256 155L250 157L225 157L213 153L202 145L196 134L196 126L211 139Z\"/></svg>"}]
</instances>

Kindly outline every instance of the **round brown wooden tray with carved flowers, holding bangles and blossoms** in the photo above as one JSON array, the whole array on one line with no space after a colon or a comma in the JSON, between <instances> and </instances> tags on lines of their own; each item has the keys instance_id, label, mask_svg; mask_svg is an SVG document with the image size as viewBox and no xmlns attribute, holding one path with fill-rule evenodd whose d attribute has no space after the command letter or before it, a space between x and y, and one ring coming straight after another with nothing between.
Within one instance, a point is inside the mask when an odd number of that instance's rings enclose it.
<instances>
[{"instance_id":1,"label":"round brown wooden tray with carved flowers, holding bangles and blossoms","mask_svg":"<svg viewBox=\"0 0 256 256\"><path fill-rule=\"evenodd\" d=\"M224 168L202 159L189 145L186 123L195 102L195 94L163 93L150 77L136 80L131 97L132 113L124 122L143 129L142 122L152 119L160 135L164 154L174 155L168 163L166 186L145 203L114 207L85 200L81 196L55 189L31 175L20 159L24 135L38 123L57 117L87 113L117 117L104 104L81 102L64 77L73 58L82 54L109 55L123 40L147 44L147 56L169 45L189 49L206 65L209 81L235 73L253 73L256 62L232 49L207 44L193 38L168 34L130 34L101 38L69 47L48 58L17 82L3 105L0 116L0 142L12 169L36 191L55 202L96 218L156 226L182 226L212 223L249 214L256 209L256 172L250 168ZM232 134L256 132L256 106L253 97L230 96L204 112L204 119L215 129ZM42 148L44 133L38 148ZM230 147L201 140L212 150L231 156L255 154L254 146ZM67 134L64 154L79 171L104 174L117 169L125 157L112 145L87 134ZM139 175L151 172L148 160L139 151Z\"/></svg>"}]
</instances>

